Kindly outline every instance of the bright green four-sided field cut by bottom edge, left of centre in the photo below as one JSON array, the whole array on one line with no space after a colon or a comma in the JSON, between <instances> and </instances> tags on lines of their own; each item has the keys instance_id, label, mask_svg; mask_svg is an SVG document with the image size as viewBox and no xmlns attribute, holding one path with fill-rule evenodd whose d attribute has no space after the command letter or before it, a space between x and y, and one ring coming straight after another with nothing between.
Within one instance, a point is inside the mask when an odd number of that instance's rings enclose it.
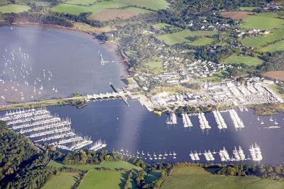
<instances>
[{"instance_id":1,"label":"bright green four-sided field cut by bottom edge, left of centre","mask_svg":"<svg viewBox=\"0 0 284 189\"><path fill-rule=\"evenodd\" d=\"M90 188L123 188L127 173L124 171L89 171L80 189Z\"/></svg>"}]
</instances>

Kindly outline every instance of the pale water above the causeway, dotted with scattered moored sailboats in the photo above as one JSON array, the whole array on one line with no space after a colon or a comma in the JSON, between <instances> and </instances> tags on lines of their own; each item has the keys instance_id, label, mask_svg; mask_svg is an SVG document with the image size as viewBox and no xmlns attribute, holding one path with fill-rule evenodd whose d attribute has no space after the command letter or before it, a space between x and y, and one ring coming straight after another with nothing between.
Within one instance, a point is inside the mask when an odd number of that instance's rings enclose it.
<instances>
[{"instance_id":1,"label":"pale water above the causeway, dotted with scattered moored sailboats","mask_svg":"<svg viewBox=\"0 0 284 189\"><path fill-rule=\"evenodd\" d=\"M31 96L35 99L111 91L109 81L123 85L119 79L121 63L102 66L99 52L107 61L119 61L119 57L99 45L92 35L3 26L0 41L0 79L4 81L0 82L0 93L5 98L0 98L0 103L27 101Z\"/></svg>"}]
</instances>

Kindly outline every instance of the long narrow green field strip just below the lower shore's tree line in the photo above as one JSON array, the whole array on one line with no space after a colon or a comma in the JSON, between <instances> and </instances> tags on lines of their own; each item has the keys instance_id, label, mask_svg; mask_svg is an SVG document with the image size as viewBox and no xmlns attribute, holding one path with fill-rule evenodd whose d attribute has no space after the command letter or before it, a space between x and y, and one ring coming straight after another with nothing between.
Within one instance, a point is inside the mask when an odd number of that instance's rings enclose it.
<instances>
[{"instance_id":1,"label":"long narrow green field strip just below the lower shore's tree line","mask_svg":"<svg viewBox=\"0 0 284 189\"><path fill-rule=\"evenodd\" d=\"M140 167L134 166L130 164L129 162L126 161L104 161L100 165L94 165L94 164L84 164L84 165L72 165L72 166L65 166L64 164L61 164L60 162L57 161L50 161L48 166L53 166L56 168L62 168L62 167L68 167L68 168L80 168L82 170L94 170L95 168L124 168L126 170L130 170L131 168L135 168L137 170L141 170Z\"/></svg>"}]
</instances>

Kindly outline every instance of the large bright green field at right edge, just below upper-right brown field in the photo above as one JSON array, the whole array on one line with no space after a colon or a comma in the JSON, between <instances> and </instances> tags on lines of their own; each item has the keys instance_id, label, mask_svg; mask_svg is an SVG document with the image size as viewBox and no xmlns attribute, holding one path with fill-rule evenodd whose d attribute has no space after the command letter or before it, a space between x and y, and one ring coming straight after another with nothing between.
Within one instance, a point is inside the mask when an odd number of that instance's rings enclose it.
<instances>
[{"instance_id":1,"label":"large bright green field at right edge, just below upper-right brown field","mask_svg":"<svg viewBox=\"0 0 284 189\"><path fill-rule=\"evenodd\" d=\"M242 28L257 28L259 30L269 30L277 28L284 24L284 19L275 18L277 13L260 13L256 16L249 16L244 18L244 25Z\"/></svg>"}]
</instances>

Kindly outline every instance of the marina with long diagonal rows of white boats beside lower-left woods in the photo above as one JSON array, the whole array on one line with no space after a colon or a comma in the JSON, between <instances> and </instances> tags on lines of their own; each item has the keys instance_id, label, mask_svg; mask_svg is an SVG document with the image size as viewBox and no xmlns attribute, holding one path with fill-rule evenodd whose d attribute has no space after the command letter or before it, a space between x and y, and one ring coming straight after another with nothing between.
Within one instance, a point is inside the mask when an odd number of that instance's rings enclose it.
<instances>
[{"instance_id":1,"label":"marina with long diagonal rows of white boats beside lower-left woods","mask_svg":"<svg viewBox=\"0 0 284 189\"><path fill-rule=\"evenodd\" d=\"M2 115L0 120L5 121L10 129L26 135L35 142L44 142L58 149L76 151L107 147L101 139L94 143L90 137L75 134L71 128L70 118L61 120L58 115L51 115L45 108L10 110Z\"/></svg>"}]
</instances>

